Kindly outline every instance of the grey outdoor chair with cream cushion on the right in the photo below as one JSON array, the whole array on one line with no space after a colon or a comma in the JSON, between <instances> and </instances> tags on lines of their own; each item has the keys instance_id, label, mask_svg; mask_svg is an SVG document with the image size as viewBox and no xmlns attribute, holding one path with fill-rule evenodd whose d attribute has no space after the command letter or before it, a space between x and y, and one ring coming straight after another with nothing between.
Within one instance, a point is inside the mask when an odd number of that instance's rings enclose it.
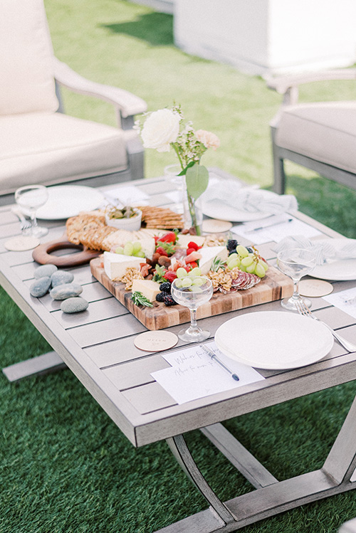
<instances>
[{"instance_id":1,"label":"grey outdoor chair with cream cushion on the right","mask_svg":"<svg viewBox=\"0 0 356 533\"><path fill-rule=\"evenodd\" d=\"M302 83L355 78L350 68L268 80L269 88L284 95L271 122L276 193L285 189L285 159L356 189L356 100L298 103Z\"/></svg>"}]
</instances>

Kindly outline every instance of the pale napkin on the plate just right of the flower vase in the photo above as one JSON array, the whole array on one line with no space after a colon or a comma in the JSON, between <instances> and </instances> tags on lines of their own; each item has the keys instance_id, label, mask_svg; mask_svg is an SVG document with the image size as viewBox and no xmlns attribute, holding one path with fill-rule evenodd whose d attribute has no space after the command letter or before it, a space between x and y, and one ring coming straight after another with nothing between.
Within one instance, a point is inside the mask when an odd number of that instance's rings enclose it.
<instances>
[{"instance_id":1,"label":"pale napkin on the plate just right of the flower vase","mask_svg":"<svg viewBox=\"0 0 356 533\"><path fill-rule=\"evenodd\" d=\"M242 187L234 180L211 184L201 196L207 204L225 204L247 213L271 213L273 215L298 209L297 200L292 194L278 195L256 187Z\"/></svg>"}]
</instances>

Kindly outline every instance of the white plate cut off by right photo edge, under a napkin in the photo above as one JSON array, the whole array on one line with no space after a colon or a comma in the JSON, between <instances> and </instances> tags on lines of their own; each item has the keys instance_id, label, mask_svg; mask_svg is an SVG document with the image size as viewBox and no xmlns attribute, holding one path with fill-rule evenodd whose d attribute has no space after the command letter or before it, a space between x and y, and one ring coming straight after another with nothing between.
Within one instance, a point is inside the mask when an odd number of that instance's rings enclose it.
<instances>
[{"instance_id":1,"label":"white plate cut off by right photo edge, under a napkin","mask_svg":"<svg viewBox=\"0 0 356 533\"><path fill-rule=\"evenodd\" d=\"M335 246L335 250L342 248L350 242L356 243L356 239L352 238L335 238L333 240L323 239L315 241L315 243L331 243ZM325 265L317 265L310 273L313 278L320 278L321 280L335 280L347 281L356 280L356 259L340 259L332 263L325 263Z\"/></svg>"}]
</instances>

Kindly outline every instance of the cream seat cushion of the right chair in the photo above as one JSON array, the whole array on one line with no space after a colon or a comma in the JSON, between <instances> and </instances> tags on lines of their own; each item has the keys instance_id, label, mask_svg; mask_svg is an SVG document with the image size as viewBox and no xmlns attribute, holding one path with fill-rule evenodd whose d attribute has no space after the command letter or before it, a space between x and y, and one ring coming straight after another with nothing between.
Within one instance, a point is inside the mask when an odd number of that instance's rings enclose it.
<instances>
[{"instance_id":1,"label":"cream seat cushion of the right chair","mask_svg":"<svg viewBox=\"0 0 356 533\"><path fill-rule=\"evenodd\" d=\"M356 171L356 102L290 105L281 113L279 147Z\"/></svg>"}]
</instances>

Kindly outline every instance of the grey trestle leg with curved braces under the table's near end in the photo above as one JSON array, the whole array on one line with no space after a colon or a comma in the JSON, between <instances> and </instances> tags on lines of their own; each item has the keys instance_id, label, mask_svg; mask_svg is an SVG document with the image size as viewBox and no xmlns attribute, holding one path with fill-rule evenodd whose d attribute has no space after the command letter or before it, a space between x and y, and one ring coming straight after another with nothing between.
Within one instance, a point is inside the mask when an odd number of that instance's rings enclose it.
<instances>
[{"instance_id":1,"label":"grey trestle leg with curved braces under the table's near end","mask_svg":"<svg viewBox=\"0 0 356 533\"><path fill-rule=\"evenodd\" d=\"M250 471L251 481L256 480L255 486L259 487L221 502L194 462L184 437L180 435L169 438L167 443L179 465L204 495L210 507L159 529L156 533L229 533L274 514L356 488L356 397L323 468L288 480L278 481L267 471L261 470L251 454L246 454L246 450L234 437L226 435L225 428L221 431L216 424L204 430L208 430L204 433L209 433L207 436L210 440L216 441L217 448L230 458L236 468L242 473L244 470ZM242 465L243 456L247 459L246 465Z\"/></svg>"}]
</instances>

